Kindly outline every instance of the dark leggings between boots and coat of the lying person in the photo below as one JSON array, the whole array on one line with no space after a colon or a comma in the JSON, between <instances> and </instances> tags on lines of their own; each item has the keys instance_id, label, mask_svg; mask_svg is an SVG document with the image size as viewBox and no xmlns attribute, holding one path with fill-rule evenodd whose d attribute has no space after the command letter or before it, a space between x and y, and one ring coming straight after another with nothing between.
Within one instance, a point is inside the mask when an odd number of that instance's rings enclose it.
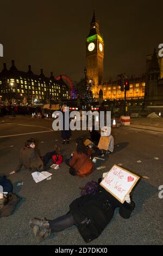
<instances>
[{"instance_id":1,"label":"dark leggings between boots and coat of the lying person","mask_svg":"<svg viewBox=\"0 0 163 256\"><path fill-rule=\"evenodd\" d=\"M74 225L74 218L71 212L68 212L66 215L55 218L53 221L49 221L51 233L62 231L66 228L70 228Z\"/></svg>"}]
</instances>

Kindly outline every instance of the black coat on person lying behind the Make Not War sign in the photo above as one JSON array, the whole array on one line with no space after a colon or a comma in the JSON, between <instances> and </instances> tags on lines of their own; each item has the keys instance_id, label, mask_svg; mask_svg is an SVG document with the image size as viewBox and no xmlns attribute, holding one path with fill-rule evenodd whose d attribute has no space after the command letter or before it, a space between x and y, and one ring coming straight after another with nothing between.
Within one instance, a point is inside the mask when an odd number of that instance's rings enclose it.
<instances>
[{"instance_id":1,"label":"black coat on person lying behind the Make Not War sign","mask_svg":"<svg viewBox=\"0 0 163 256\"><path fill-rule=\"evenodd\" d=\"M87 194L70 204L70 212L74 217L80 235L86 243L96 239L111 221L115 208L123 218L129 218L135 203L126 201L121 204L109 192L101 188L96 194Z\"/></svg>"}]
</instances>

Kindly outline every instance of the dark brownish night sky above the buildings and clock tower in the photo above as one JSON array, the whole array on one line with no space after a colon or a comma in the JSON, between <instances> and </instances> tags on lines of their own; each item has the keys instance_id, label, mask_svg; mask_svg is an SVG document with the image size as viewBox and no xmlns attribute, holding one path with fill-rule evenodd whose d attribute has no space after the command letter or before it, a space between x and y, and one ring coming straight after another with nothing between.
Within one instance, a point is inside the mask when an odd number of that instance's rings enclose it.
<instances>
[{"instance_id":1,"label":"dark brownish night sky above the buildings and clock tower","mask_svg":"<svg viewBox=\"0 0 163 256\"><path fill-rule=\"evenodd\" d=\"M46 76L84 77L85 41L93 9L104 36L104 81L117 74L139 76L146 55L163 43L163 1L1 0L0 43L7 68L15 59L18 70L32 65Z\"/></svg>"}]
</instances>

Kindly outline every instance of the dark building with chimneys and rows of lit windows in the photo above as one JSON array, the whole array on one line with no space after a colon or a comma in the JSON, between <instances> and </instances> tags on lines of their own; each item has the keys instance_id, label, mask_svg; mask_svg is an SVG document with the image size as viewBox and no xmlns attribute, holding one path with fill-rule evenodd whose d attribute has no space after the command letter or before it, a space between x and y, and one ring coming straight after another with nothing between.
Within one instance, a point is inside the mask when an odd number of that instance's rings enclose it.
<instances>
[{"instance_id":1,"label":"dark building with chimneys and rows of lit windows","mask_svg":"<svg viewBox=\"0 0 163 256\"><path fill-rule=\"evenodd\" d=\"M3 70L0 73L0 96L1 100L22 102L26 97L27 102L35 101L59 102L70 99L70 89L62 80L55 80L53 73L51 77L45 77L41 69L40 75L33 74L29 65L28 72L18 71L14 60L9 70L3 64Z\"/></svg>"}]
</instances>

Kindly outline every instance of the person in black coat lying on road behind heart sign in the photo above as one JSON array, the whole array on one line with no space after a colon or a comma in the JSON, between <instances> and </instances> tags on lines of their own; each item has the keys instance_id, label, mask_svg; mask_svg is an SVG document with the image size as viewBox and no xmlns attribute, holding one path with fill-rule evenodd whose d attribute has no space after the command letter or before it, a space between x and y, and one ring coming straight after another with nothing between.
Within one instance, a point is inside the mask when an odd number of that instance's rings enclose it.
<instances>
[{"instance_id":1,"label":"person in black coat lying on road behind heart sign","mask_svg":"<svg viewBox=\"0 0 163 256\"><path fill-rule=\"evenodd\" d=\"M101 179L100 179L101 180ZM62 231L76 225L80 235L86 243L96 239L109 224L116 208L123 218L129 218L135 208L135 203L126 195L124 203L120 203L114 196L99 186L93 194L86 194L75 199L70 204L66 215L52 221L47 218L33 218L29 227L33 228L37 242L41 242L52 233Z\"/></svg>"}]
</instances>

